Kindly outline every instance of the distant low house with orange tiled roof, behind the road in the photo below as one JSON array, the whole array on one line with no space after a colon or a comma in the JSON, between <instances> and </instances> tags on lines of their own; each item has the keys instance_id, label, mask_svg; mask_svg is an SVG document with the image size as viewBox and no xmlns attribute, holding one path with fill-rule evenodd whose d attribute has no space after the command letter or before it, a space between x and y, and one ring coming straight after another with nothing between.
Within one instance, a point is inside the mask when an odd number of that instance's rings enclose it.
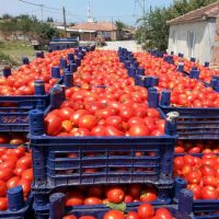
<instances>
[{"instance_id":1,"label":"distant low house with orange tiled roof, behind the road","mask_svg":"<svg viewBox=\"0 0 219 219\"><path fill-rule=\"evenodd\" d=\"M117 27L112 22L87 22L70 26L71 35L78 35L80 41L95 41L103 37L106 41L116 41L118 37Z\"/></svg>"}]
</instances>

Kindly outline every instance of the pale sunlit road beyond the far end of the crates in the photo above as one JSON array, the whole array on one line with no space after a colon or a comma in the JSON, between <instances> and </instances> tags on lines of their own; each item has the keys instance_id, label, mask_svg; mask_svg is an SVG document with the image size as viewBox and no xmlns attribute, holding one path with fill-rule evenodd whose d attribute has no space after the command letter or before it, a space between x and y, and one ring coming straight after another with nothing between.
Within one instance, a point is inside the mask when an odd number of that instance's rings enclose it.
<instances>
[{"instance_id":1,"label":"pale sunlit road beyond the far end of the crates","mask_svg":"<svg viewBox=\"0 0 219 219\"><path fill-rule=\"evenodd\" d=\"M130 51L140 51L141 48L139 45L136 44L135 41L116 41L116 42L106 42L106 46L102 47L101 49L111 49L117 50L118 47L127 48Z\"/></svg>"}]
</instances>

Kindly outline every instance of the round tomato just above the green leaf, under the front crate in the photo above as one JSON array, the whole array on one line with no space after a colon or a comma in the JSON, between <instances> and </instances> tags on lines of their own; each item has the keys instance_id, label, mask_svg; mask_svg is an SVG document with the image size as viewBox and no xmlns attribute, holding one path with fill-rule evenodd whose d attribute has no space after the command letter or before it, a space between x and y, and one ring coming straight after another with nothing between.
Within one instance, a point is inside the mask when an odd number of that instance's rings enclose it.
<instances>
[{"instance_id":1,"label":"round tomato just above the green leaf, under the front crate","mask_svg":"<svg viewBox=\"0 0 219 219\"><path fill-rule=\"evenodd\" d=\"M125 193L119 187L112 187L112 188L110 188L107 191L106 197L107 197L107 200L110 203L118 204L118 203L124 201L124 199L125 199Z\"/></svg>"}]
</instances>

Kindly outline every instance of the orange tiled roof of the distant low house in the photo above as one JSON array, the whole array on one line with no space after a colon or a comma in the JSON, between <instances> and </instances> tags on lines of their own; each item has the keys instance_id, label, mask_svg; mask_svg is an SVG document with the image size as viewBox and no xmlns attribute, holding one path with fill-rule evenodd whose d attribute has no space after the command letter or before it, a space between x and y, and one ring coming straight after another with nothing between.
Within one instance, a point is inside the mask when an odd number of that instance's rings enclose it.
<instances>
[{"instance_id":1,"label":"orange tiled roof of the distant low house","mask_svg":"<svg viewBox=\"0 0 219 219\"><path fill-rule=\"evenodd\" d=\"M72 30L82 31L116 31L117 27L111 22L88 22L70 26Z\"/></svg>"}]
</instances>

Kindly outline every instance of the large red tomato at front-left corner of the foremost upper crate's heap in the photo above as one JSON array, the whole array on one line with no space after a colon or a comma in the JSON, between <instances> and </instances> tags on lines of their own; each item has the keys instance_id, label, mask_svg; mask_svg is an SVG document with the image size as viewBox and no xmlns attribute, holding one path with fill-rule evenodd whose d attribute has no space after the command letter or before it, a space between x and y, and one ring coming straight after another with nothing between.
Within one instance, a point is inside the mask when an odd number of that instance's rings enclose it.
<instances>
[{"instance_id":1,"label":"large red tomato at front-left corner of the foremost upper crate's heap","mask_svg":"<svg viewBox=\"0 0 219 219\"><path fill-rule=\"evenodd\" d=\"M61 131L61 118L56 115L48 115L45 118L46 132L49 136L56 136Z\"/></svg>"}]
</instances>

